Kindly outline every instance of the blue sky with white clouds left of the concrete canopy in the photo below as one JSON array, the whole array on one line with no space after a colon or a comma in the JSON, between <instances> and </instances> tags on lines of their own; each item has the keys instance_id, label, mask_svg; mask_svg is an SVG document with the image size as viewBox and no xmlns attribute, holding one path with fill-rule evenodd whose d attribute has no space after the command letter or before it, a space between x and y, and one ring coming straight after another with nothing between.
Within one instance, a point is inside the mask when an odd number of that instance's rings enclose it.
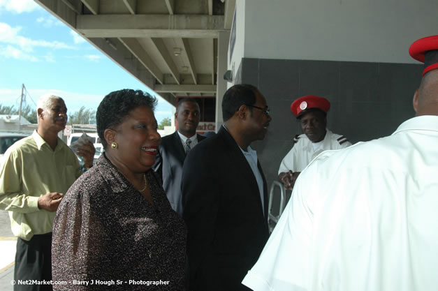
<instances>
[{"instance_id":1,"label":"blue sky with white clouds left of the concrete canopy","mask_svg":"<svg viewBox=\"0 0 438 291\"><path fill-rule=\"evenodd\" d=\"M0 0L0 105L20 107L52 93L64 98L68 114L85 106L96 110L119 89L140 89L157 97L158 122L173 106L120 68L66 24L32 0Z\"/></svg>"}]
</instances>

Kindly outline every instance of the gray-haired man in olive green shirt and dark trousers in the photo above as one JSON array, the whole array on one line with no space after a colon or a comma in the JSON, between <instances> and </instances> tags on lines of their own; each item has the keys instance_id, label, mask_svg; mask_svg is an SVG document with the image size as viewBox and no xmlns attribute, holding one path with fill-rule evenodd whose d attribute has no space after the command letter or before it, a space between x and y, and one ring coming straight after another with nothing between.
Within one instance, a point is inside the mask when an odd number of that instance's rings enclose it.
<instances>
[{"instance_id":1,"label":"gray-haired man in olive green shirt and dark trousers","mask_svg":"<svg viewBox=\"0 0 438 291\"><path fill-rule=\"evenodd\" d=\"M59 96L38 100L38 129L13 144L0 168L0 209L10 211L17 239L14 290L52 290L51 285L22 285L19 280L50 281L52 223L64 193L82 170L73 151L57 136L67 122ZM91 167L94 147L78 150Z\"/></svg>"}]
</instances>

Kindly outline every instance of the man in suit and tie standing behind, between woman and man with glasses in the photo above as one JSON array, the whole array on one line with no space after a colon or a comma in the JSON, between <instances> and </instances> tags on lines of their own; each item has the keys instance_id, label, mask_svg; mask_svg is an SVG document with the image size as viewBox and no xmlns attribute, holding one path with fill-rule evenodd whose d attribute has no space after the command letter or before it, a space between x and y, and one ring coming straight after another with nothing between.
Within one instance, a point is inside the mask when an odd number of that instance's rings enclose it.
<instances>
[{"instance_id":1,"label":"man in suit and tie standing behind, between woman and man with glasses","mask_svg":"<svg viewBox=\"0 0 438 291\"><path fill-rule=\"evenodd\" d=\"M180 99L175 112L178 130L163 137L155 158L155 172L161 175L163 188L173 210L182 215L181 175L186 158L187 141L192 149L205 137L196 134L199 124L199 105L194 98Z\"/></svg>"}]
</instances>

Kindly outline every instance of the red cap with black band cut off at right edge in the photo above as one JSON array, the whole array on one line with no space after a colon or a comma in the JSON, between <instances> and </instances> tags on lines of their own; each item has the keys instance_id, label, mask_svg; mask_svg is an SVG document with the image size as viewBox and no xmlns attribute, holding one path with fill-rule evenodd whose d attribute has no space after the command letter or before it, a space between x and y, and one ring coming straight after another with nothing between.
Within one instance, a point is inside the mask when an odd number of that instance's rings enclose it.
<instances>
[{"instance_id":1,"label":"red cap with black band cut off at right edge","mask_svg":"<svg viewBox=\"0 0 438 291\"><path fill-rule=\"evenodd\" d=\"M414 41L409 47L409 54L424 63L423 76L430 70L438 68L438 36L428 36Z\"/></svg>"}]
</instances>

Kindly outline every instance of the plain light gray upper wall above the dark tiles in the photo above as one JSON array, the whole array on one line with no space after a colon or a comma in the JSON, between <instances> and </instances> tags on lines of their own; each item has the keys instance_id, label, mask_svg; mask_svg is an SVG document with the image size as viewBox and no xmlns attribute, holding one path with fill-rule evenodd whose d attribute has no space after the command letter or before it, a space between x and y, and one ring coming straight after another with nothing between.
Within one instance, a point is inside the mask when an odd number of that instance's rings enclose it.
<instances>
[{"instance_id":1,"label":"plain light gray upper wall above the dark tiles","mask_svg":"<svg viewBox=\"0 0 438 291\"><path fill-rule=\"evenodd\" d=\"M416 64L409 45L437 34L436 0L251 0L243 5L236 11L237 22L244 22L239 37L244 37L246 58Z\"/></svg>"}]
</instances>

